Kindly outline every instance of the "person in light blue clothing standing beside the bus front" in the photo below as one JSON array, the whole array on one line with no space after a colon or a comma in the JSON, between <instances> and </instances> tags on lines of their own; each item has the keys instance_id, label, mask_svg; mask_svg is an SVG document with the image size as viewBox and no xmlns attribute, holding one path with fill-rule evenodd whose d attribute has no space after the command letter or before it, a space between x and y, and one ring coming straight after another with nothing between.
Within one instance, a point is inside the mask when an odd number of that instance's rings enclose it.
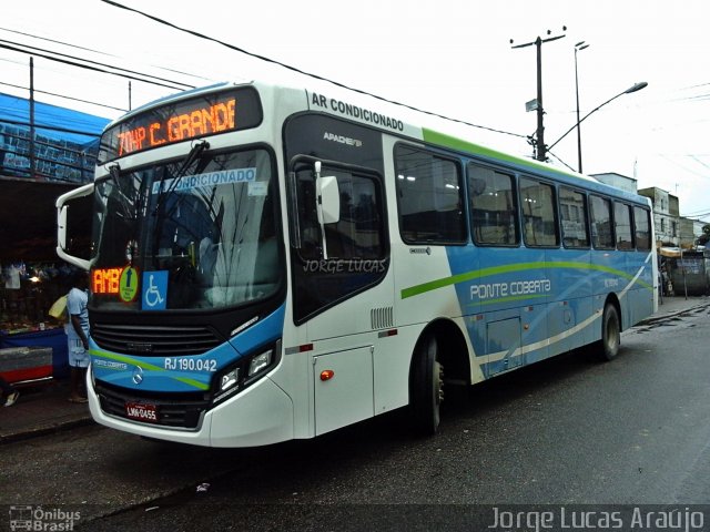
<instances>
[{"instance_id":1,"label":"person in light blue clothing standing beside the bus front","mask_svg":"<svg viewBox=\"0 0 710 532\"><path fill-rule=\"evenodd\" d=\"M87 402L85 378L89 367L89 278L85 272L75 274L73 288L67 295L67 338L71 402Z\"/></svg>"}]
</instances>

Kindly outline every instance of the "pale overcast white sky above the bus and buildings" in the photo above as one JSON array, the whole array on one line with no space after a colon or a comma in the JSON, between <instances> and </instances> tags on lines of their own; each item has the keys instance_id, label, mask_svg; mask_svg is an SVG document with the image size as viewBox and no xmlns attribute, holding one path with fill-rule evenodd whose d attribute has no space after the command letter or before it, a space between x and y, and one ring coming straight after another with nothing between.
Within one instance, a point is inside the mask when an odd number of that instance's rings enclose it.
<instances>
[{"instance_id":1,"label":"pale overcast white sky above the bus and buildings","mask_svg":"<svg viewBox=\"0 0 710 532\"><path fill-rule=\"evenodd\" d=\"M702 0L116 0L252 54L432 113L481 125L471 142L531 157L536 47L542 44L545 141L551 164L578 167L580 116L635 83L580 125L585 173L613 172L679 198L710 221L710 45ZM510 40L514 40L511 45ZM588 48L577 53L575 44ZM0 45L22 44L189 85L292 79L256 59L101 0L3 2ZM27 50L27 49L26 49ZM115 119L178 92L70 66L34 51L36 98ZM28 96L30 54L0 48L0 92ZM577 65L578 85L575 81ZM18 86L12 86L18 85ZM182 86L182 85L181 85ZM83 103L44 93L62 94ZM116 109L113 109L116 108ZM513 134L508 134L513 133Z\"/></svg>"}]
</instances>

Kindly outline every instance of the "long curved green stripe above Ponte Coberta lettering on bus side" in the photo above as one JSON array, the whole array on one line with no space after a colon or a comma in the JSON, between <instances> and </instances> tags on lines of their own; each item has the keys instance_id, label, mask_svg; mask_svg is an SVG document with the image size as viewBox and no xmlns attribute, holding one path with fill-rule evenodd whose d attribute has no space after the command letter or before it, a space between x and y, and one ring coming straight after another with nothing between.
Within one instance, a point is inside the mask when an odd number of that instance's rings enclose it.
<instances>
[{"instance_id":1,"label":"long curved green stripe above Ponte Coberta lettering on bus side","mask_svg":"<svg viewBox=\"0 0 710 532\"><path fill-rule=\"evenodd\" d=\"M633 276L627 274L626 272L621 272L619 269L615 269L609 266L604 266L598 264L570 263L570 262L518 263L518 264L506 264L503 266L493 266L490 268L474 269L471 272L466 272L464 274L453 275L450 277L444 277L436 280L429 280L428 283L422 283L420 285L415 285L415 286L410 286L409 288L404 288L400 293L400 297L402 299L406 299L408 297L418 296L420 294L436 290L438 288L444 288L446 286L457 285L459 283L466 283L467 280L473 280L481 277L490 277L491 275L509 274L511 272L524 272L528 269L549 269L549 268L591 269L596 272L605 272L607 274L617 275L619 277L625 277L629 280L633 279ZM643 288L651 289L651 290L653 289L651 285L649 285L643 280L636 279L636 283L642 286Z\"/></svg>"}]
</instances>

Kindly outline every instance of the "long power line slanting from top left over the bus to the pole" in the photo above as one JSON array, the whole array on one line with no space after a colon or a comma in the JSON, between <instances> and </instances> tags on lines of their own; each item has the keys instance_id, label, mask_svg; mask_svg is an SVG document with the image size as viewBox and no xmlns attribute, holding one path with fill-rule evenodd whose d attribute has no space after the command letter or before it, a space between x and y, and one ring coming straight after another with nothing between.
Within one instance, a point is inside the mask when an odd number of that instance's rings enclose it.
<instances>
[{"instance_id":1,"label":"long power line slanting from top left over the bus to the pole","mask_svg":"<svg viewBox=\"0 0 710 532\"><path fill-rule=\"evenodd\" d=\"M394 100L388 100L388 99L386 99L384 96L378 96L377 94L373 94L373 93L364 91L362 89L355 89L355 88L345 85L343 83L339 83L337 81L333 81L331 79L324 78L322 75L314 74L312 72L305 72L305 71L303 71L303 70L301 70L301 69L298 69L296 66L292 66L290 64L282 63L281 61L276 61L276 60L267 58L265 55L260 55L257 53L248 52L248 51L244 50L243 48L236 47L234 44L230 44L229 42L222 41L220 39L215 39L214 37L205 35L204 33L200 33L199 31L194 31L194 30L190 30L190 29L186 29L186 28L182 28L180 25L176 25L176 24L174 24L172 22L169 22L169 21L166 21L164 19L161 19L159 17L155 17L155 16L152 16L152 14L148 14L148 13L145 13L143 11L140 11L138 9L134 9L134 8L129 8L128 6L123 6L123 4L114 2L112 0L101 0L101 1L104 2L104 3L108 3L109 6L113 6L114 8L124 9L126 11L131 11L133 13L138 13L138 14L140 14L142 17L145 17L146 19L150 19L150 20L152 20L154 22L158 22L160 24L163 24L163 25L168 25L168 27L173 28L173 29L175 29L178 31L182 31L182 32L189 33L189 34L191 34L193 37L197 37L200 39L204 39L206 41L214 42L214 43L220 44L222 47L229 48L230 50L234 50L236 52L240 52L240 53L243 53L245 55L248 55L251 58L260 59L260 60L265 61L267 63L272 63L272 64L276 64L278 66L283 66L284 69L291 70L292 72L296 72L298 74L307 75L308 78L313 78L313 79L318 80L318 81L325 81L325 82L331 83L331 84L333 84L335 86L339 86L342 89L346 89L348 91L353 91L353 92L356 92L358 94L364 94L364 95L367 95L367 96L372 96L372 98L375 98L375 99L377 99L379 101L383 101L383 102L392 103L392 104L395 104L395 105L399 105L402 108L409 109L412 111L417 111L419 113L428 114L429 116L437 116L439 119L444 119L444 120L447 120L449 122L456 122L456 123L459 123L459 124L469 125L471 127L478 127L478 129L490 131L490 132L494 132L494 133L501 133L501 134L505 134L505 135L517 136L517 137L520 137L520 139L527 139L528 137L527 135L520 135L518 133L510 133L509 131L497 130L495 127L488 127L486 125L473 124L473 123L466 122L464 120L452 119L450 116L445 116L443 114L434 113L432 111L425 111L423 109L415 108L415 106L408 105L406 103L397 102L397 101L394 101Z\"/></svg>"}]
</instances>

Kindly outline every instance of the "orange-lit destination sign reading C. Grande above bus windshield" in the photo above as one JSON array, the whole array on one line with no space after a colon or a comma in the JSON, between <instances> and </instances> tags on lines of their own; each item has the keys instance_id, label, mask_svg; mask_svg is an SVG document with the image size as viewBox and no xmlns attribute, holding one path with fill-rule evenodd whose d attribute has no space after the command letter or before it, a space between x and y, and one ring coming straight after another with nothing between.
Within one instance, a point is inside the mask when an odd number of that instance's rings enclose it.
<instances>
[{"instance_id":1,"label":"orange-lit destination sign reading C. Grande above bus windshield","mask_svg":"<svg viewBox=\"0 0 710 532\"><path fill-rule=\"evenodd\" d=\"M216 133L255 127L262 121L256 91L243 88L171 102L131 116L101 137L99 161Z\"/></svg>"}]
</instances>

